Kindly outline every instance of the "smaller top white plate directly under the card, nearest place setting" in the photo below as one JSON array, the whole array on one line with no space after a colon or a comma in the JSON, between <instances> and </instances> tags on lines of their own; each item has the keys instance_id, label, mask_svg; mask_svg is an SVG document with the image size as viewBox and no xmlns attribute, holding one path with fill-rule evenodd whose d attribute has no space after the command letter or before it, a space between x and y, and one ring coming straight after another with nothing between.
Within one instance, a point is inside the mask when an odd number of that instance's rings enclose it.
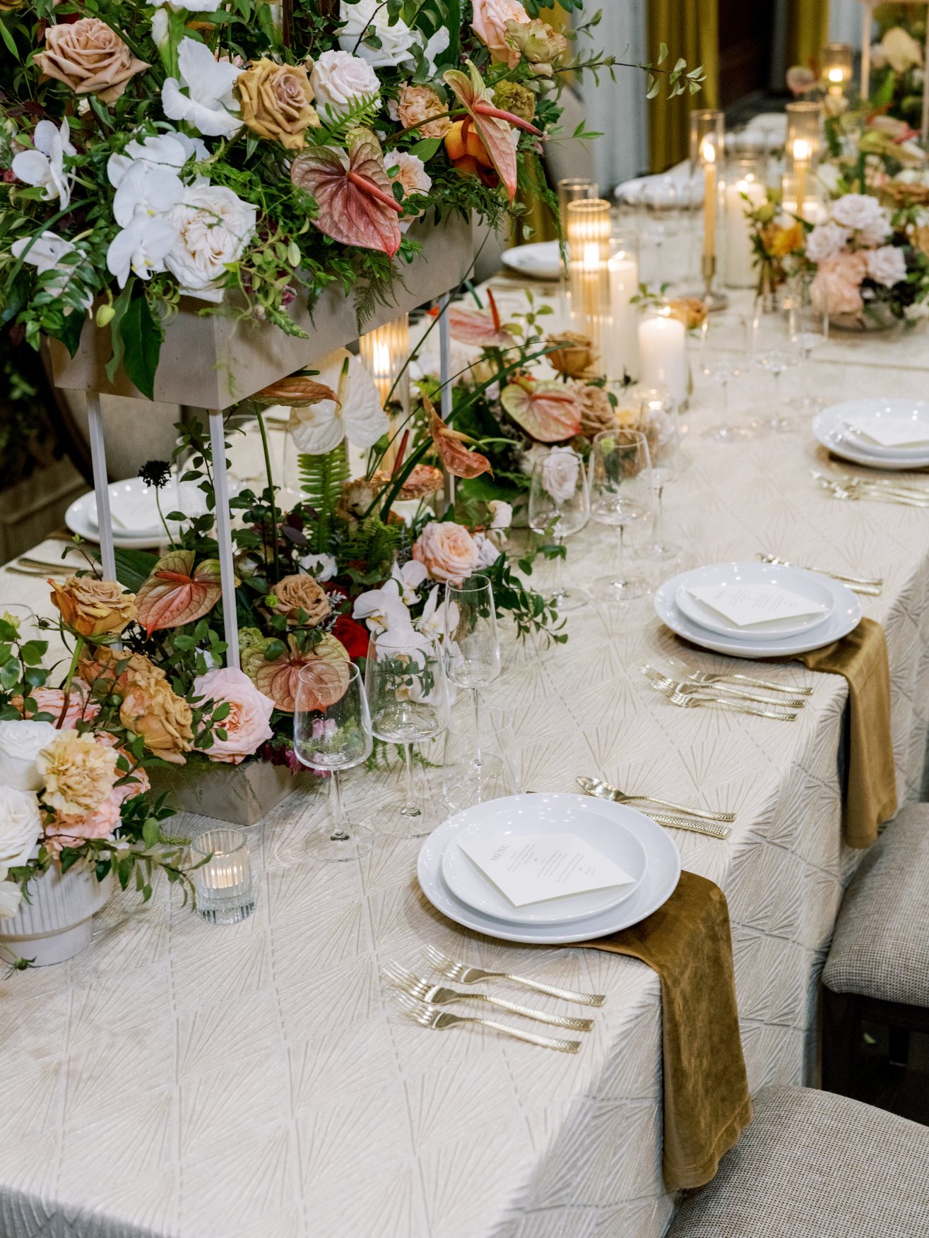
<instances>
[{"instance_id":1,"label":"smaller top white plate directly under the card, nearest place setting","mask_svg":"<svg viewBox=\"0 0 929 1238\"><path fill-rule=\"evenodd\" d=\"M580 810L576 805L552 802L544 795L520 797L525 802L514 803L512 796L478 803L457 813L461 828L442 853L442 877L446 885L469 907L476 907L498 920L512 924L551 925L582 920L617 906L630 898L645 875L645 849L638 838L616 820L614 813L597 813L596 808ZM604 803L608 810L609 805ZM623 868L632 881L585 894L570 894L560 899L545 899L514 906L509 899L484 877L481 869L461 849L466 839L503 839L513 834L577 834L601 854Z\"/></svg>"}]
</instances>

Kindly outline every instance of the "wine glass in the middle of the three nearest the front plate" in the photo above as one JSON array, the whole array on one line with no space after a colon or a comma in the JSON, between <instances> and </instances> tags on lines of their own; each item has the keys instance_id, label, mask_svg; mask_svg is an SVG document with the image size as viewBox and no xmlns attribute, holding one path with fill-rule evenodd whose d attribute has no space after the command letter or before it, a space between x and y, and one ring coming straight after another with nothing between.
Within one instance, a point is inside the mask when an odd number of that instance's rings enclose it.
<instances>
[{"instance_id":1,"label":"wine glass in the middle of the three nearest the front plate","mask_svg":"<svg viewBox=\"0 0 929 1238\"><path fill-rule=\"evenodd\" d=\"M412 625L388 629L368 645L364 683L372 730L378 739L401 744L405 794L385 806L382 828L401 838L420 838L438 825L431 801L417 802L412 745L434 739L448 725L448 685L440 646Z\"/></svg>"}]
</instances>

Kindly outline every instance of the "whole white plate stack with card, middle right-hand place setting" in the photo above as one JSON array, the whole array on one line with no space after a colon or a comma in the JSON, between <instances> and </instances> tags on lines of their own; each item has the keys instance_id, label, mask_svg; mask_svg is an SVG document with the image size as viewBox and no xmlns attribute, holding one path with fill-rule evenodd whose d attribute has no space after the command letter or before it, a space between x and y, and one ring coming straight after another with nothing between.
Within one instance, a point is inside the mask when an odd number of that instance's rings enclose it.
<instances>
[{"instance_id":1,"label":"whole white plate stack with card, middle right-hand place setting","mask_svg":"<svg viewBox=\"0 0 929 1238\"><path fill-rule=\"evenodd\" d=\"M752 621L746 603L757 607ZM801 567L713 563L680 572L655 593L658 617L695 645L736 657L785 657L840 640L861 602L829 576ZM765 619L765 613L784 612Z\"/></svg>"}]
</instances>

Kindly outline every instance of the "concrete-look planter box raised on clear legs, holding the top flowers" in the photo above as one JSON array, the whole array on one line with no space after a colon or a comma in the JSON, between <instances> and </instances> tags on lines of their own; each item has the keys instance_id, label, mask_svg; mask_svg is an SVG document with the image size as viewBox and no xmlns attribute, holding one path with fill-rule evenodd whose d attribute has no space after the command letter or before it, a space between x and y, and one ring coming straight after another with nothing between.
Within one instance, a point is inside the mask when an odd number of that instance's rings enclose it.
<instances>
[{"instance_id":1,"label":"concrete-look planter box raised on clear legs, holding the top flowers","mask_svg":"<svg viewBox=\"0 0 929 1238\"><path fill-rule=\"evenodd\" d=\"M473 238L469 220L445 219L437 227L419 223L410 236L422 253L410 265L398 264L394 302L378 306L364 331L372 331L432 297L456 288L471 267ZM334 285L312 307L297 300L291 317L308 339L285 335L277 327L251 319L239 322L223 314L202 314L203 301L181 298L181 308L165 328L155 400L199 409L228 409L286 374L358 338L354 295ZM312 313L311 313L312 311ZM51 340L55 385L72 391L99 391L144 399L120 370L115 383L107 378L111 354L109 328L88 318L81 347L72 358L58 340Z\"/></svg>"}]
</instances>

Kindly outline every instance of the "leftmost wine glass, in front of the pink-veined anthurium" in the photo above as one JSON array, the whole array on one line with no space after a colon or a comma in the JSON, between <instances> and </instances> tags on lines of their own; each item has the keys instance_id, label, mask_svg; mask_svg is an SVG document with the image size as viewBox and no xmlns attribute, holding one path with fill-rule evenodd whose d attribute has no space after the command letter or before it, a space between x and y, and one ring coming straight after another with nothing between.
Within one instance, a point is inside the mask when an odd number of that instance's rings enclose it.
<instances>
[{"instance_id":1,"label":"leftmost wine glass, in front of the pink-veined anthurium","mask_svg":"<svg viewBox=\"0 0 929 1238\"><path fill-rule=\"evenodd\" d=\"M318 675L308 666L301 667L294 706L294 751L303 765L329 775L332 821L328 828L320 827L307 839L306 849L313 859L355 859L367 855L374 846L372 829L348 825L338 781L342 770L360 765L370 756L370 750L368 698L354 662L348 664L346 691L325 709L320 708Z\"/></svg>"}]
</instances>

